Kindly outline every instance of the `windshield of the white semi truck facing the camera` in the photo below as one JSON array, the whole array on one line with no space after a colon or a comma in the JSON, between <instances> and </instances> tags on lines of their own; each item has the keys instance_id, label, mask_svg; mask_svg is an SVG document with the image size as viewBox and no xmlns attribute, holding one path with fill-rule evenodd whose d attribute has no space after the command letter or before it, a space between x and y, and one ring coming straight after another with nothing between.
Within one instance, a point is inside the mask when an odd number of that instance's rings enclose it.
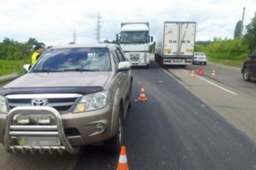
<instances>
[{"instance_id":1,"label":"windshield of the white semi truck facing the camera","mask_svg":"<svg viewBox=\"0 0 256 170\"><path fill-rule=\"evenodd\" d=\"M120 32L120 43L149 43L149 32Z\"/></svg>"}]
</instances>

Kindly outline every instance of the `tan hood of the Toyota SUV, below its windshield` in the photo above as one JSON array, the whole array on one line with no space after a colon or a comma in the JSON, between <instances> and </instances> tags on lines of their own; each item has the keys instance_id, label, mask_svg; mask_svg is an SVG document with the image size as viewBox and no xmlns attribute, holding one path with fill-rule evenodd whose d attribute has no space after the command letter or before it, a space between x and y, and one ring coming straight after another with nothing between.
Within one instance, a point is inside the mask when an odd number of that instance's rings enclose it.
<instances>
[{"instance_id":1,"label":"tan hood of the Toyota SUV, below its windshield","mask_svg":"<svg viewBox=\"0 0 256 170\"><path fill-rule=\"evenodd\" d=\"M4 88L47 88L69 86L105 87L112 72L40 72L27 73Z\"/></svg>"}]
</instances>

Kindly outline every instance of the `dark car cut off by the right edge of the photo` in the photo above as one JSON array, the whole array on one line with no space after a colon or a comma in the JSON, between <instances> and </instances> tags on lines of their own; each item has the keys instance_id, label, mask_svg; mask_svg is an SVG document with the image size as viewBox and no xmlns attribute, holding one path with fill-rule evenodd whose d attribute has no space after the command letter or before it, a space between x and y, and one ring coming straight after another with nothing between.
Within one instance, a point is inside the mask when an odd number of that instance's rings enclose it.
<instances>
[{"instance_id":1,"label":"dark car cut off by the right edge of the photo","mask_svg":"<svg viewBox=\"0 0 256 170\"><path fill-rule=\"evenodd\" d=\"M247 60L244 60L241 72L244 81L248 82L251 78L256 78L256 51L248 55Z\"/></svg>"}]
</instances>

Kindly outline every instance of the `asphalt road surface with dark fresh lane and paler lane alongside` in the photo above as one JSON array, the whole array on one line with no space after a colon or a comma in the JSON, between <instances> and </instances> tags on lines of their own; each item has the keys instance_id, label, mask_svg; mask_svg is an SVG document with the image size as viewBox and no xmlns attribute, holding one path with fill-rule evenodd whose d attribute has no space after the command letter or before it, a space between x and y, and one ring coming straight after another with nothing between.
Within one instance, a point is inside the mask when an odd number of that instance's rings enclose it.
<instances>
[{"instance_id":1,"label":"asphalt road surface with dark fresh lane and paler lane alongside","mask_svg":"<svg viewBox=\"0 0 256 170\"><path fill-rule=\"evenodd\" d=\"M237 121L241 113L248 112L249 117L255 110L255 95L244 90L244 82L241 90L221 80L219 76L226 75L220 75L219 69L216 76L220 79L212 80L213 65L203 66L205 76L191 78L196 67L201 66L163 70L152 61L149 69L133 68L133 105L124 126L129 169L256 169L256 143L251 132L247 133L254 126L244 125L254 118ZM141 85L147 98L144 102L137 100ZM254 82L248 86L255 88ZM246 103L239 105L244 98L248 98ZM0 158L4 169L98 170L116 169L119 154L86 146L80 156L14 156L1 148Z\"/></svg>"}]
</instances>

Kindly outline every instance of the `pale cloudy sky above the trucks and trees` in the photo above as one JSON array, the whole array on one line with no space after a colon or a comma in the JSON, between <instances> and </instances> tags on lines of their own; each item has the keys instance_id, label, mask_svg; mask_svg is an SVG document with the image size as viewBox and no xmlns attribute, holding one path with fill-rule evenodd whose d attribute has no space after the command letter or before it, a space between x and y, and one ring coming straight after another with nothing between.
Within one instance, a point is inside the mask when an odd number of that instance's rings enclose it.
<instances>
[{"instance_id":1,"label":"pale cloudy sky above the trucks and trees","mask_svg":"<svg viewBox=\"0 0 256 170\"><path fill-rule=\"evenodd\" d=\"M97 26L100 41L112 41L121 22L149 22L153 37L164 22L196 22L196 41L232 39L243 11L244 34L255 0L0 0L0 42L94 43Z\"/></svg>"}]
</instances>

